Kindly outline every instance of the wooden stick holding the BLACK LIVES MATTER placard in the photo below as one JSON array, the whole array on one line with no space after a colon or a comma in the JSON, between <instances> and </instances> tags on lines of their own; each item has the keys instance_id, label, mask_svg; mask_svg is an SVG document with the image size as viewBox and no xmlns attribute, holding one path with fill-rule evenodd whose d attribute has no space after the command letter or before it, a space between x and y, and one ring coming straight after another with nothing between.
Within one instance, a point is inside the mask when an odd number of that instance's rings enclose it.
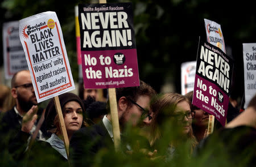
<instances>
[{"instance_id":1,"label":"wooden stick holding the BLACK LIVES MATTER placard","mask_svg":"<svg viewBox=\"0 0 256 167\"><path fill-rule=\"evenodd\" d=\"M54 97L54 104L55 104L56 112L57 112L58 119L60 122L60 130L61 130L61 134L63 135L63 138L64 138L65 149L66 149L67 157L68 157L68 155L69 155L69 140L68 140L68 134L67 134L67 130L66 130L65 123L64 123L63 114L61 111L59 96Z\"/></svg>"}]
</instances>

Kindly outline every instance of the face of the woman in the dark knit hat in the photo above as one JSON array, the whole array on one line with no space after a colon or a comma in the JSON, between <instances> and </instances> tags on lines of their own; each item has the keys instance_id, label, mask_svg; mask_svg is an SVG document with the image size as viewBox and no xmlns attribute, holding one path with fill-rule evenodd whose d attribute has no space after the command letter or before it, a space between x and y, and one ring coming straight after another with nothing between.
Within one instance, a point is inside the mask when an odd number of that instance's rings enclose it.
<instances>
[{"instance_id":1,"label":"face of the woman in the dark knit hat","mask_svg":"<svg viewBox=\"0 0 256 167\"><path fill-rule=\"evenodd\" d=\"M79 130L82 126L82 108L76 101L69 101L64 105L64 122L68 135Z\"/></svg>"}]
</instances>

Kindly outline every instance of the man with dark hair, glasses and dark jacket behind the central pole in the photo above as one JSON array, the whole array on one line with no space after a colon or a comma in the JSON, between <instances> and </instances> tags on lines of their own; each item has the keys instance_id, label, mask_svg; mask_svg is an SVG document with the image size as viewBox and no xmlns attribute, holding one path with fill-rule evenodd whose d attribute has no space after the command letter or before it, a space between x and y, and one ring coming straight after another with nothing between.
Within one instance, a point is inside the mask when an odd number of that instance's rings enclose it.
<instances>
[{"instance_id":1,"label":"man with dark hair, glasses and dark jacket behind the central pole","mask_svg":"<svg viewBox=\"0 0 256 167\"><path fill-rule=\"evenodd\" d=\"M139 87L117 88L117 110L121 134L128 123L137 126L148 115L151 97L155 91L150 85L140 82ZM145 113L146 112L146 113ZM94 155L102 148L113 147L112 118L110 113L92 127L82 128L73 134L70 142L71 159L74 166L93 162ZM86 144L93 143L89 148ZM123 138L121 135L121 143ZM87 145L88 146L88 145ZM128 146L128 145L127 145ZM90 166L90 165L89 165Z\"/></svg>"}]
</instances>

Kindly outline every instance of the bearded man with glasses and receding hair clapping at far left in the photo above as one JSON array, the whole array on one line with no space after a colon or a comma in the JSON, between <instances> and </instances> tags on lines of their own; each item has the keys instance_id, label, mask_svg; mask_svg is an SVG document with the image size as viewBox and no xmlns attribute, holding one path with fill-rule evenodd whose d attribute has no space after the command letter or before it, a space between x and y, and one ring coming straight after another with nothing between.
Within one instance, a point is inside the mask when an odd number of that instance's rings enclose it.
<instances>
[{"instance_id":1,"label":"bearded man with glasses and receding hair clapping at far left","mask_svg":"<svg viewBox=\"0 0 256 167\"><path fill-rule=\"evenodd\" d=\"M3 115L0 122L0 131L1 136L9 138L9 140L2 142L7 142L7 145L10 144L9 151L13 152L16 149L15 145L24 143L34 133L43 109L38 110L38 102L28 70L18 71L13 75L11 95L15 99L16 105ZM42 124L40 130L37 130L38 135L34 136L36 140L46 140L46 136L48 136L43 120L40 121L40 124ZM16 143L16 141L13 141L16 139L23 141Z\"/></svg>"}]
</instances>

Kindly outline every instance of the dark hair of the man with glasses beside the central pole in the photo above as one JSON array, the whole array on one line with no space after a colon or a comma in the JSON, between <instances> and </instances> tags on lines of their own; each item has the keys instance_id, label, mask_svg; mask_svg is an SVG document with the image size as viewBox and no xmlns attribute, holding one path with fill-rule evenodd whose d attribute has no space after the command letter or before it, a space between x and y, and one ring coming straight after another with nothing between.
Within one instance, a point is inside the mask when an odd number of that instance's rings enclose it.
<instances>
[{"instance_id":1,"label":"dark hair of the man with glasses beside the central pole","mask_svg":"<svg viewBox=\"0 0 256 167\"><path fill-rule=\"evenodd\" d=\"M115 89L115 93L117 96L117 101L123 96L133 101L137 101L139 96L152 97L156 95L155 90L150 85L144 83L142 80L139 82L139 87L117 88ZM128 106L132 105L130 100L127 102Z\"/></svg>"}]
</instances>

